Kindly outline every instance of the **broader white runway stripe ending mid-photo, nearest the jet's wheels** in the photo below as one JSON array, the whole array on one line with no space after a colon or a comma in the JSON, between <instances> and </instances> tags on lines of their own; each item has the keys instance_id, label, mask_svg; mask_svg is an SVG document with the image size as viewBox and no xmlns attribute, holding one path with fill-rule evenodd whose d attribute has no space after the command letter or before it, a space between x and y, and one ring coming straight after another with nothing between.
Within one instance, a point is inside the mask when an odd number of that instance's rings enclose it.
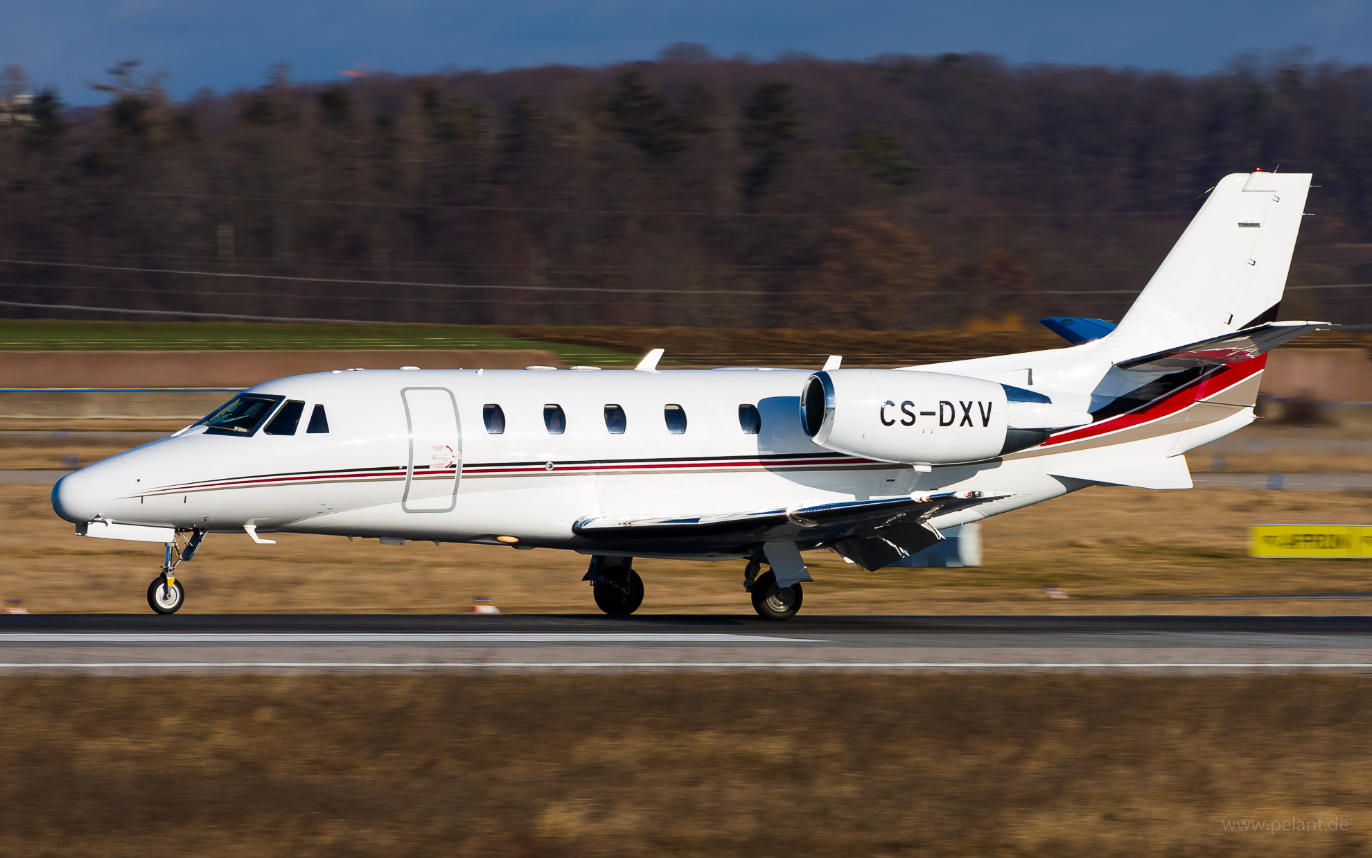
<instances>
[{"instance_id":1,"label":"broader white runway stripe ending mid-photo, nearest the jet's wheels","mask_svg":"<svg viewBox=\"0 0 1372 858\"><path fill-rule=\"evenodd\" d=\"M166 631L139 633L0 633L4 644L797 644L804 637L767 634L671 634L654 631L464 631L464 633L311 633L311 631Z\"/></svg>"}]
</instances>

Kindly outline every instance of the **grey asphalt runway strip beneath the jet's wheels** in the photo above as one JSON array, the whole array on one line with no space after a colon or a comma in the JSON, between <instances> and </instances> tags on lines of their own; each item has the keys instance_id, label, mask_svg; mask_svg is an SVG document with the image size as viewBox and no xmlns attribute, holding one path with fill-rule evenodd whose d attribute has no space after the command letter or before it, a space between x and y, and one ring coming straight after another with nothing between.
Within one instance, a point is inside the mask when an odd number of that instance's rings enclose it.
<instances>
[{"instance_id":1,"label":"grey asphalt runway strip beneath the jet's wheels","mask_svg":"<svg viewBox=\"0 0 1372 858\"><path fill-rule=\"evenodd\" d=\"M1365 616L7 615L0 674L1358 671Z\"/></svg>"}]
</instances>

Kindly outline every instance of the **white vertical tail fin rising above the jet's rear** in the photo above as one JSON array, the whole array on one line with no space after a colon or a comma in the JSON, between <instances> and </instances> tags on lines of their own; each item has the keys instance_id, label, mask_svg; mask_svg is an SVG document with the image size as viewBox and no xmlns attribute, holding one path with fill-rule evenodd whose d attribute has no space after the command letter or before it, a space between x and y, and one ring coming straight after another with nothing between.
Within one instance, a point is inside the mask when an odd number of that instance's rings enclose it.
<instances>
[{"instance_id":1,"label":"white vertical tail fin rising above the jet's rear","mask_svg":"<svg viewBox=\"0 0 1372 858\"><path fill-rule=\"evenodd\" d=\"M1309 173L1220 180L1148 286L1106 338L1117 358L1276 321Z\"/></svg>"}]
</instances>

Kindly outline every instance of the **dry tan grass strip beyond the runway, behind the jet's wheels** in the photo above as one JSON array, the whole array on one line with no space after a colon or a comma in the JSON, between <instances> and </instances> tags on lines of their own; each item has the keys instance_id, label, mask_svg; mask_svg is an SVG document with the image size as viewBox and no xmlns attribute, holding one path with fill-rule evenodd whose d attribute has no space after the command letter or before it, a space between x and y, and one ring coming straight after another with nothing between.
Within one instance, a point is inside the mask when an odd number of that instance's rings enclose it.
<instances>
[{"instance_id":1,"label":"dry tan grass strip beyond the runway, behind the jet's wheels","mask_svg":"<svg viewBox=\"0 0 1372 858\"><path fill-rule=\"evenodd\" d=\"M75 537L45 486L0 486L0 599L34 612L144 612L161 546ZM1356 493L1087 489L984 523L986 566L863 572L836 555L807 556L808 614L1364 614L1372 601L1111 601L1136 597L1372 592L1372 561L1254 560L1246 529L1264 523L1360 524ZM473 596L505 611L594 612L587 559L428 542L210 535L181 567L187 611L450 612ZM741 563L638 560L645 612L748 612ZM1045 583L1073 599L1048 600Z\"/></svg>"}]
</instances>

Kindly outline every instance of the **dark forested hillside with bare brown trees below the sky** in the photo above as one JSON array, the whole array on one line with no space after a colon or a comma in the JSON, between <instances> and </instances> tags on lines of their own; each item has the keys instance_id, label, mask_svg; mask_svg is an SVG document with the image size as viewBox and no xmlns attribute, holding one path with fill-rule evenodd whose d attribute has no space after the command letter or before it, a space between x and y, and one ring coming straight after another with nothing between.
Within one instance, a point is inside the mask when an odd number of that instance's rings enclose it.
<instances>
[{"instance_id":1,"label":"dark forested hillside with bare brown trees below the sky","mask_svg":"<svg viewBox=\"0 0 1372 858\"><path fill-rule=\"evenodd\" d=\"M3 59L3 58L0 58ZM1117 317L1229 172L1313 172L1284 316L1372 321L1372 69L988 56L370 74L0 122L4 316L726 328ZM8 95L25 89L11 69ZM44 306L33 306L44 305ZM148 316L148 318L166 318Z\"/></svg>"}]
</instances>

